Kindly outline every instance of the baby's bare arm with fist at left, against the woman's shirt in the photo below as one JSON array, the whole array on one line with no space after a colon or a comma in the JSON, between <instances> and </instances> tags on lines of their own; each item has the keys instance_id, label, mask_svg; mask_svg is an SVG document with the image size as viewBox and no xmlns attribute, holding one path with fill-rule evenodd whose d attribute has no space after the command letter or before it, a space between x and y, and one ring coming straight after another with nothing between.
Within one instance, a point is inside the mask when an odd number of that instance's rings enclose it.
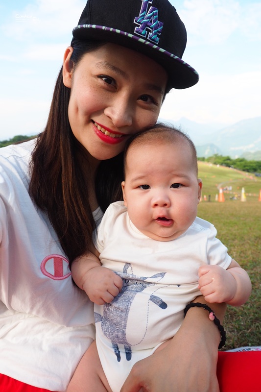
<instances>
[{"instance_id":1,"label":"baby's bare arm with fist at left, against the woman's shirt","mask_svg":"<svg viewBox=\"0 0 261 392\"><path fill-rule=\"evenodd\" d=\"M72 262L71 274L76 285L85 291L91 301L103 305L119 294L122 280L113 271L101 267L99 253L94 246L92 252Z\"/></svg>"}]
</instances>

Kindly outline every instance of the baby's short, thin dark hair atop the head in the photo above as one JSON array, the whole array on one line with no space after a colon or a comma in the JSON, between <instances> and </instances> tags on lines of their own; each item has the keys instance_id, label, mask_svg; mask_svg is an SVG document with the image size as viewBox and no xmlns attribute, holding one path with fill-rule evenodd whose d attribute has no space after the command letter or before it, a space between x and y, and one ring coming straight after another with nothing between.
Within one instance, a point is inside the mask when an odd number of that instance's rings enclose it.
<instances>
[{"instance_id":1,"label":"baby's short, thin dark hair atop the head","mask_svg":"<svg viewBox=\"0 0 261 392\"><path fill-rule=\"evenodd\" d=\"M171 144L179 143L180 141L184 141L189 145L192 155L192 165L195 167L196 174L198 174L197 151L190 137L171 124L157 123L145 131L136 133L127 140L124 150L124 175L127 154L130 147L140 147L152 144Z\"/></svg>"}]
</instances>

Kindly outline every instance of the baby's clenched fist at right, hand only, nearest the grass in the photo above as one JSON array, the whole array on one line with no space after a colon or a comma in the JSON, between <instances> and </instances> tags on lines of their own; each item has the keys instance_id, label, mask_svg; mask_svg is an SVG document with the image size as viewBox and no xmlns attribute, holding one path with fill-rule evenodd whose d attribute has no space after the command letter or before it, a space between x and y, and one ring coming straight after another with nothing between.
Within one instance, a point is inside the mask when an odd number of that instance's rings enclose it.
<instances>
[{"instance_id":1,"label":"baby's clenched fist at right, hand only, nearest the grass","mask_svg":"<svg viewBox=\"0 0 261 392\"><path fill-rule=\"evenodd\" d=\"M204 265L198 269L198 288L207 302L229 302L237 291L237 282L230 272L219 266Z\"/></svg>"}]
</instances>

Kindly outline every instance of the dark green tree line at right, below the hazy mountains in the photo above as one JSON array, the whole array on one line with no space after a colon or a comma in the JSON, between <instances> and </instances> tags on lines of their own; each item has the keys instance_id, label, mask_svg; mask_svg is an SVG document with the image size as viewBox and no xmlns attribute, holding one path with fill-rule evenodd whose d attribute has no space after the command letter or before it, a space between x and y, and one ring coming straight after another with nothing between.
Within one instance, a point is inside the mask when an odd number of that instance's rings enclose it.
<instances>
[{"instance_id":1,"label":"dark green tree line at right, below the hazy mountains","mask_svg":"<svg viewBox=\"0 0 261 392\"><path fill-rule=\"evenodd\" d=\"M245 158L232 159L230 156L214 154L208 158L197 158L199 161L210 162L214 165L227 166L242 172L261 173L261 161L248 161Z\"/></svg>"}]
</instances>

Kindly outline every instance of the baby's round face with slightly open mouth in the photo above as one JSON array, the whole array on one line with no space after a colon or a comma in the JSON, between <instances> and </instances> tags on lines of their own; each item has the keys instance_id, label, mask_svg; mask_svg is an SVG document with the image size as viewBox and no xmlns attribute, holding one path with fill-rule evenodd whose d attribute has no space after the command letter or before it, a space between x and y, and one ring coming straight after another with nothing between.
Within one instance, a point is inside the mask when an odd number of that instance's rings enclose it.
<instances>
[{"instance_id":1,"label":"baby's round face with slightly open mouth","mask_svg":"<svg viewBox=\"0 0 261 392\"><path fill-rule=\"evenodd\" d=\"M183 234L196 218L201 187L188 143L129 148L124 204L146 236L170 241Z\"/></svg>"}]
</instances>

